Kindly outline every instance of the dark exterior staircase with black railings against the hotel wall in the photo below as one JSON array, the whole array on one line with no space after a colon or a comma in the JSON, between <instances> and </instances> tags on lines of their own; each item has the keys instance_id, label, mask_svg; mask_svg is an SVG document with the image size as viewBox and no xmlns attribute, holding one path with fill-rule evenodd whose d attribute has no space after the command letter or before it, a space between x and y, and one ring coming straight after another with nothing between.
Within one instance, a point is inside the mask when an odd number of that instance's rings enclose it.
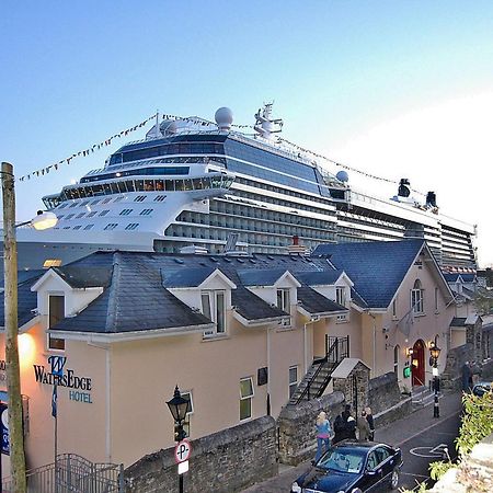
<instances>
[{"instance_id":1,"label":"dark exterior staircase with black railings against the hotel wall","mask_svg":"<svg viewBox=\"0 0 493 493\"><path fill-rule=\"evenodd\" d=\"M288 405L321 397L332 379L332 371L348 356L349 336L325 336L325 356L313 360L289 399Z\"/></svg>"}]
</instances>

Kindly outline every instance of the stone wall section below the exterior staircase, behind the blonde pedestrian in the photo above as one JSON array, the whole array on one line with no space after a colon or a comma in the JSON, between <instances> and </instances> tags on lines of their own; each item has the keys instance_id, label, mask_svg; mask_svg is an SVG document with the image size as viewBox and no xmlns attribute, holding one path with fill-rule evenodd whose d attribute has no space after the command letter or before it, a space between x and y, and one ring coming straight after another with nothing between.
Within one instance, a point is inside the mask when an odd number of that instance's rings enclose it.
<instances>
[{"instance_id":1,"label":"stone wall section below the exterior staircase, behind the blonde pedestrian","mask_svg":"<svg viewBox=\"0 0 493 493\"><path fill-rule=\"evenodd\" d=\"M286 405L277 419L279 434L279 460L296 466L313 458L317 448L314 423L320 411L325 411L331 424L344 410L344 394L333 392L300 402L298 405Z\"/></svg>"}]
</instances>

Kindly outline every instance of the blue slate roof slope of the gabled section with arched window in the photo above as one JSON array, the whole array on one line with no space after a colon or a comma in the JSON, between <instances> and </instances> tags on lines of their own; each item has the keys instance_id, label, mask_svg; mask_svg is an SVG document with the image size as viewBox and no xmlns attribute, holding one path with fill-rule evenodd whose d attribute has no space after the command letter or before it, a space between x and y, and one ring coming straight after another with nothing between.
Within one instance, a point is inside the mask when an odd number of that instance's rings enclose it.
<instances>
[{"instance_id":1,"label":"blue slate roof slope of the gabled section with arched window","mask_svg":"<svg viewBox=\"0 0 493 493\"><path fill-rule=\"evenodd\" d=\"M328 256L343 270L370 308L388 308L424 240L321 244L313 256Z\"/></svg>"}]
</instances>

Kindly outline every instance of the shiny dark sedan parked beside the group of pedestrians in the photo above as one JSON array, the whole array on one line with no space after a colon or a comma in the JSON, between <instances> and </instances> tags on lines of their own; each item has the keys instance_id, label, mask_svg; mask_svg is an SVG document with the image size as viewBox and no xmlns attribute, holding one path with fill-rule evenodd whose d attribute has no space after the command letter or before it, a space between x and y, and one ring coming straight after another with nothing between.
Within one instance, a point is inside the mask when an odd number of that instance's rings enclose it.
<instances>
[{"instance_id":1,"label":"shiny dark sedan parked beside the group of pedestrians","mask_svg":"<svg viewBox=\"0 0 493 493\"><path fill-rule=\"evenodd\" d=\"M343 440L293 483L291 493L395 490L401 466L400 448L375 442Z\"/></svg>"}]
</instances>

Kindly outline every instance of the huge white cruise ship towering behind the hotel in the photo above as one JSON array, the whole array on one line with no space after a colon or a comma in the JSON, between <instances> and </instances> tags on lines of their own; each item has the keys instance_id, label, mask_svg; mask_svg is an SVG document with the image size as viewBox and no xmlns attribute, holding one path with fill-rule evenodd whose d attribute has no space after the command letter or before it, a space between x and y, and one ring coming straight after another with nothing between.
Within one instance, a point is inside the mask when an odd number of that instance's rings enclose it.
<instances>
[{"instance_id":1,"label":"huge white cruise ship towering behind the hotel","mask_svg":"<svg viewBox=\"0 0 493 493\"><path fill-rule=\"evenodd\" d=\"M402 179L392 198L351 187L346 171L280 139L272 104L251 134L221 107L215 123L157 118L102 169L43 198L58 223L18 229L20 267L59 265L94 250L285 253L320 243L424 238L444 270L475 268L474 227L420 203ZM244 126L242 126L244 127ZM24 251L24 254L22 252Z\"/></svg>"}]
</instances>

